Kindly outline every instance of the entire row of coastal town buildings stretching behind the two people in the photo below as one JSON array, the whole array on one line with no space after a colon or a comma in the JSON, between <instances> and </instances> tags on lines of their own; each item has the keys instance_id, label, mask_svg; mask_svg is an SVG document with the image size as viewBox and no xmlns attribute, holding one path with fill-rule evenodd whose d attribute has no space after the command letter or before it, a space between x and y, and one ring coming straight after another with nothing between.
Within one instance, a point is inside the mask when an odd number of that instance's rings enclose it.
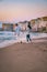
<instances>
[{"instance_id":1,"label":"entire row of coastal town buildings stretching behind the two people","mask_svg":"<svg viewBox=\"0 0 47 72\"><path fill-rule=\"evenodd\" d=\"M47 17L42 17L37 19L32 19L31 21L21 21L17 24L21 27L22 31L27 30L28 22L32 27L33 32L47 32ZM0 22L0 31L14 31L16 23L3 23Z\"/></svg>"}]
</instances>

